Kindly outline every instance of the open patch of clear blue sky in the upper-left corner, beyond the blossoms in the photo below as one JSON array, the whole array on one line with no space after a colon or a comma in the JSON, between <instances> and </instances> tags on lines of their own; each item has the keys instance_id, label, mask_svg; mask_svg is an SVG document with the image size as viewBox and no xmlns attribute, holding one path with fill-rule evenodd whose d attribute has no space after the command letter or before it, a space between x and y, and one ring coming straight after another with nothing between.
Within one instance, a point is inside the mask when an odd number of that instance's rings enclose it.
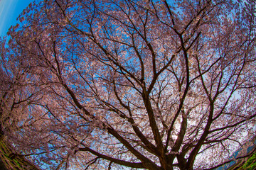
<instances>
[{"instance_id":1,"label":"open patch of clear blue sky in the upper-left corner, beyond the blossoms","mask_svg":"<svg viewBox=\"0 0 256 170\"><path fill-rule=\"evenodd\" d=\"M16 24L16 18L33 0L0 0L0 36Z\"/></svg>"}]
</instances>

